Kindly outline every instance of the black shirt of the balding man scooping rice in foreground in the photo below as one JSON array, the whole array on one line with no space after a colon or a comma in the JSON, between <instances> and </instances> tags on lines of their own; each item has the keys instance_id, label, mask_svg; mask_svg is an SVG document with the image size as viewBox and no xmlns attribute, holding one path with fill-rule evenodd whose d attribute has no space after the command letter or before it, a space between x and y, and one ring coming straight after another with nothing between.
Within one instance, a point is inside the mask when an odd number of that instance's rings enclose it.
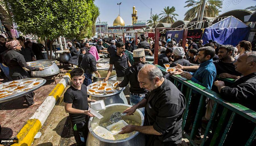
<instances>
[{"instance_id":1,"label":"black shirt of the balding man scooping rice in foreground","mask_svg":"<svg viewBox=\"0 0 256 146\"><path fill-rule=\"evenodd\" d=\"M144 125L153 126L154 130L162 134L149 135L147 145L181 143L185 105L184 95L166 78L160 87L147 94Z\"/></svg>"}]
</instances>

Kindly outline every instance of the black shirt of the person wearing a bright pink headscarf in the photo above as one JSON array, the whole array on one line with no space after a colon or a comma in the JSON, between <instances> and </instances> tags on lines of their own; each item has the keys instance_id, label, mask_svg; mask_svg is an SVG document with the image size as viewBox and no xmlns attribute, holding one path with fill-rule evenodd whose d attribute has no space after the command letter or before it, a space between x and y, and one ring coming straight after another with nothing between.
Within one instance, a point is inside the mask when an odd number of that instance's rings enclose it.
<instances>
[{"instance_id":1,"label":"black shirt of the person wearing a bright pink headscarf","mask_svg":"<svg viewBox=\"0 0 256 146\"><path fill-rule=\"evenodd\" d=\"M80 66L86 74L97 71L96 59L91 53L84 55Z\"/></svg>"}]
</instances>

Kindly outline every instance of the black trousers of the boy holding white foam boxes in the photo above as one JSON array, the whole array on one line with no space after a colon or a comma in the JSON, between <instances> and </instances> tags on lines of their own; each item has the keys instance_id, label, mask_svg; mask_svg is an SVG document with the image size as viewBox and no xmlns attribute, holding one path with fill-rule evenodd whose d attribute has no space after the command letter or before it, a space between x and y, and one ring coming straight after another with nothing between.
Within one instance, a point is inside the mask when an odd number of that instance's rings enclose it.
<instances>
[{"instance_id":1,"label":"black trousers of the boy holding white foam boxes","mask_svg":"<svg viewBox=\"0 0 256 146\"><path fill-rule=\"evenodd\" d=\"M86 118L85 118L84 121L77 122L77 123L76 122L72 122L71 119L70 119L70 123L71 123L71 128L72 129L75 126L75 124L77 125L77 131L75 131L73 129L77 145L80 145L80 146L86 145L86 140L87 140L87 136L88 136L88 132L89 132L88 120L89 120L89 117L87 115L86 115ZM80 137L84 137L84 142L81 141Z\"/></svg>"}]
</instances>

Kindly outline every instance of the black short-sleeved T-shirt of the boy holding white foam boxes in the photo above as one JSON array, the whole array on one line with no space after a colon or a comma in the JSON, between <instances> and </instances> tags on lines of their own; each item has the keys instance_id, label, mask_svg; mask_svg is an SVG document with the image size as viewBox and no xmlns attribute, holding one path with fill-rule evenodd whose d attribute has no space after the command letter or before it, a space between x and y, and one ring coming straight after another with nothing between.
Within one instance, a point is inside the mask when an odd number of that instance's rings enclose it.
<instances>
[{"instance_id":1,"label":"black short-sleeved T-shirt of the boy holding white foam boxes","mask_svg":"<svg viewBox=\"0 0 256 146\"><path fill-rule=\"evenodd\" d=\"M72 108L79 110L88 110L87 87L82 84L81 90L74 88L72 85L64 93L64 102L72 103ZM72 122L77 123L85 120L86 114L71 114L69 117Z\"/></svg>"}]
</instances>

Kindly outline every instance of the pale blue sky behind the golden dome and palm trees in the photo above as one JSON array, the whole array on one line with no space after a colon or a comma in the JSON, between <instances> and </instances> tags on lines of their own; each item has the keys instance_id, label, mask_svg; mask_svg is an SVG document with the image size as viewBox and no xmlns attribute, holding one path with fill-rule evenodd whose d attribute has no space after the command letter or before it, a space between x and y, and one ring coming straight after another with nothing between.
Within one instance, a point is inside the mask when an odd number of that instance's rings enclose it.
<instances>
[{"instance_id":1,"label":"pale blue sky behind the golden dome and palm trees","mask_svg":"<svg viewBox=\"0 0 256 146\"><path fill-rule=\"evenodd\" d=\"M132 24L131 14L133 12L133 5L137 9L138 20L148 20L150 18L150 8L152 14L160 14L164 7L176 8L177 20L183 20L185 12L188 8L184 8L185 1L187 0L95 0L95 4L100 8L100 21L107 21L109 26L113 26L113 21L118 16L119 6L121 3L120 11L121 17L125 21L125 25ZM235 10L244 9L249 6L255 6L255 0L223 0L223 8L220 14ZM99 19L97 19L99 21Z\"/></svg>"}]
</instances>

